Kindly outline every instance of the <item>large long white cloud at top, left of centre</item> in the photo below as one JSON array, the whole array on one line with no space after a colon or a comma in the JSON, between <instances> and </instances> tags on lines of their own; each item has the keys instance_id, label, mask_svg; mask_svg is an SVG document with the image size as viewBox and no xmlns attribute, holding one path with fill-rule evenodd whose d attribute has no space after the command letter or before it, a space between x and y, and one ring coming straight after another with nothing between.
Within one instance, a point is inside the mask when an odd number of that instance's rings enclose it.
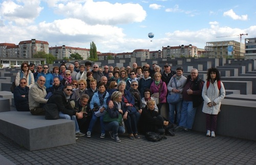
<instances>
[{"instance_id":1,"label":"large long white cloud at top, left of centre","mask_svg":"<svg viewBox=\"0 0 256 165\"><path fill-rule=\"evenodd\" d=\"M146 17L146 11L139 4L111 4L92 0L84 4L76 2L58 4L54 10L60 15L81 19L88 24L126 24L141 22Z\"/></svg>"}]
</instances>

